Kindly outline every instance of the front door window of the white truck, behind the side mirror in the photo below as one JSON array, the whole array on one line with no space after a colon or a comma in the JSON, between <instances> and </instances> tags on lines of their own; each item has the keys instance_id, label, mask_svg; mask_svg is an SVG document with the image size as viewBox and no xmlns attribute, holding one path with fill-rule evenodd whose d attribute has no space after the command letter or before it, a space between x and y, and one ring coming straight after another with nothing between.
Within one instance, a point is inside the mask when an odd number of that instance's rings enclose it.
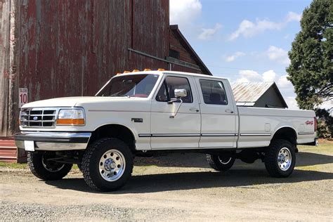
<instances>
[{"instance_id":1,"label":"front door window of the white truck, behind the side mirror","mask_svg":"<svg viewBox=\"0 0 333 222\"><path fill-rule=\"evenodd\" d=\"M182 98L183 103L193 103L190 83L188 79L184 77L166 77L161 88L159 88L156 100L159 102L167 102L171 100L171 98L175 98L175 89L185 89L188 96Z\"/></svg>"}]
</instances>

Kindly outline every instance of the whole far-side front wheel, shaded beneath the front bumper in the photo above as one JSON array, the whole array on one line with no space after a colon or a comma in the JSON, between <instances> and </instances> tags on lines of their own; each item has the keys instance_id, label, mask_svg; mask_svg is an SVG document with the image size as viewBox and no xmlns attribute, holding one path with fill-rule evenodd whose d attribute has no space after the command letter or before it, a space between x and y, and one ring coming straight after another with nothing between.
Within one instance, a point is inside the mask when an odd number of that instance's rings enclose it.
<instances>
[{"instance_id":1,"label":"whole far-side front wheel, shaded beneath the front bumper","mask_svg":"<svg viewBox=\"0 0 333 222\"><path fill-rule=\"evenodd\" d=\"M72 169L72 164L52 161L51 158L54 157L55 155L28 152L27 163L32 174L44 181L55 181L65 177Z\"/></svg>"}]
</instances>

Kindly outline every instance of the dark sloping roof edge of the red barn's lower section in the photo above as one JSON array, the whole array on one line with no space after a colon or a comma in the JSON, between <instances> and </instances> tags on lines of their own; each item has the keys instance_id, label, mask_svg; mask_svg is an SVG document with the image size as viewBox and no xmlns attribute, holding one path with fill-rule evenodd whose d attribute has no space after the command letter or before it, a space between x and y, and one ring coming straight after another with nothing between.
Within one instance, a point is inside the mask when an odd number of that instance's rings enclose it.
<instances>
[{"instance_id":1,"label":"dark sloping roof edge of the red barn's lower section","mask_svg":"<svg viewBox=\"0 0 333 222\"><path fill-rule=\"evenodd\" d=\"M181 30L178 29L178 25L170 25L170 30L171 32L174 33L174 35L177 37L177 39L181 42L181 45L185 48L186 51L188 51L192 56L197 65L200 67L200 70L204 74L212 75L209 69L207 68L206 65L204 65L204 62L202 62L201 58L197 53L194 51L192 46L188 43L188 41L185 39L183 34L181 33Z\"/></svg>"}]
</instances>

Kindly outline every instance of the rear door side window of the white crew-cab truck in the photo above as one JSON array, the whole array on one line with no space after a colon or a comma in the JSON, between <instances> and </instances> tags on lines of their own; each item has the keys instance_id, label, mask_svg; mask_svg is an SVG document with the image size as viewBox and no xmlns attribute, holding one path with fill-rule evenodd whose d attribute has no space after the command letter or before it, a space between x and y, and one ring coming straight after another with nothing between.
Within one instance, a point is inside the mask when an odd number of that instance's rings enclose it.
<instances>
[{"instance_id":1,"label":"rear door side window of the white crew-cab truck","mask_svg":"<svg viewBox=\"0 0 333 222\"><path fill-rule=\"evenodd\" d=\"M200 79L200 87L204 96L204 103L227 105L226 91L221 81Z\"/></svg>"}]
</instances>

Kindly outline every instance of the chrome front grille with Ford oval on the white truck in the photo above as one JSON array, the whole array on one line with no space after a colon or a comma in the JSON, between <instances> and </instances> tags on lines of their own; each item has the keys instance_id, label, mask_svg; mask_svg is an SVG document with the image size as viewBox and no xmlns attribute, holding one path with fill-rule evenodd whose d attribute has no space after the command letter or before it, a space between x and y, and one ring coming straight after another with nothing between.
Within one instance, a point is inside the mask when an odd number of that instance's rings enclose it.
<instances>
[{"instance_id":1,"label":"chrome front grille with Ford oval on the white truck","mask_svg":"<svg viewBox=\"0 0 333 222\"><path fill-rule=\"evenodd\" d=\"M56 115L55 108L25 108L20 112L20 125L25 128L54 128Z\"/></svg>"}]
</instances>

